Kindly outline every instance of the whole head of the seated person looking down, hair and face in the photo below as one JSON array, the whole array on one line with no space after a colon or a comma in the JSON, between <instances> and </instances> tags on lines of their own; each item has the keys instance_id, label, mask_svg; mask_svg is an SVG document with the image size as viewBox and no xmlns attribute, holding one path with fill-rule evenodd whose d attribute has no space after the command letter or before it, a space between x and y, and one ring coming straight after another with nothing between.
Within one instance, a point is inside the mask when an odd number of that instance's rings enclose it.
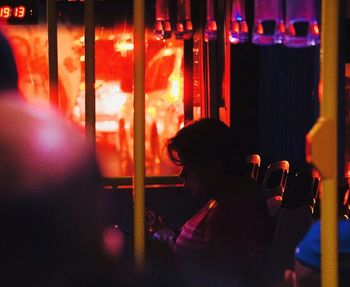
<instances>
[{"instance_id":1,"label":"whole head of the seated person looking down, hair and face","mask_svg":"<svg viewBox=\"0 0 350 287\"><path fill-rule=\"evenodd\" d=\"M218 182L246 174L240 141L223 122L203 118L180 129L167 142L170 159L182 166L180 177L200 197L211 194Z\"/></svg>"}]
</instances>

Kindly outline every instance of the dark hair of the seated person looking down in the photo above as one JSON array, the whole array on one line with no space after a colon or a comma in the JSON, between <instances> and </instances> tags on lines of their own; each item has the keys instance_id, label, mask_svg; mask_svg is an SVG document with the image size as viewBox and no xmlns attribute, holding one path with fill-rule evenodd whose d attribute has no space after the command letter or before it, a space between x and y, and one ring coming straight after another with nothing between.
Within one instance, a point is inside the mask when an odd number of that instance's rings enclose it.
<instances>
[{"instance_id":1,"label":"dark hair of the seated person looking down","mask_svg":"<svg viewBox=\"0 0 350 287\"><path fill-rule=\"evenodd\" d=\"M189 123L167 141L167 151L176 165L205 165L217 159L228 175L246 173L240 141L223 122L203 118Z\"/></svg>"}]
</instances>

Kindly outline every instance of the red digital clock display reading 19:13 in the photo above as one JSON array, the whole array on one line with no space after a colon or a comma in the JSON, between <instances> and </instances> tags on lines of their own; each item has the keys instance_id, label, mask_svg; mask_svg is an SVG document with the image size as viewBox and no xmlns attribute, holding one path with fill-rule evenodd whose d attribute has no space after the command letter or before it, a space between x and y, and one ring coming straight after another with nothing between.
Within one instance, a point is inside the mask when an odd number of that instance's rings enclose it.
<instances>
[{"instance_id":1,"label":"red digital clock display reading 19:13","mask_svg":"<svg viewBox=\"0 0 350 287\"><path fill-rule=\"evenodd\" d=\"M0 0L0 21L8 24L37 24L37 0Z\"/></svg>"}]
</instances>

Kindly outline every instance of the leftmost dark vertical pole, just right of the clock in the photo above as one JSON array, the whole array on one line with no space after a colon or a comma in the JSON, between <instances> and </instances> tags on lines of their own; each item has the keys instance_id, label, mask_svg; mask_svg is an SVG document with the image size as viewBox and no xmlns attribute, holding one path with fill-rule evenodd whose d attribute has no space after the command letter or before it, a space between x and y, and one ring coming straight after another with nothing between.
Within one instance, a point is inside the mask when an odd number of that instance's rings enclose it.
<instances>
[{"instance_id":1,"label":"leftmost dark vertical pole, just right of the clock","mask_svg":"<svg viewBox=\"0 0 350 287\"><path fill-rule=\"evenodd\" d=\"M57 9L56 0L47 0L47 31L49 59L49 101L58 107Z\"/></svg>"}]
</instances>

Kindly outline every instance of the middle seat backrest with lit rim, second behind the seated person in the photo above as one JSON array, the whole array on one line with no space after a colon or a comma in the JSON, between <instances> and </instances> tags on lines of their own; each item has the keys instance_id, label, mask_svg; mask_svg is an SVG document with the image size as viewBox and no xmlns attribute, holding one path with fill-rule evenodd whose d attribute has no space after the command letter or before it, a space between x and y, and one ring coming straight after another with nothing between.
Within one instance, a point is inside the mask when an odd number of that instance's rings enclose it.
<instances>
[{"instance_id":1,"label":"middle seat backrest with lit rim, second behind the seated person","mask_svg":"<svg viewBox=\"0 0 350 287\"><path fill-rule=\"evenodd\" d=\"M289 162L286 160L276 161L267 167L262 186L266 198L283 196L288 173Z\"/></svg>"}]
</instances>

